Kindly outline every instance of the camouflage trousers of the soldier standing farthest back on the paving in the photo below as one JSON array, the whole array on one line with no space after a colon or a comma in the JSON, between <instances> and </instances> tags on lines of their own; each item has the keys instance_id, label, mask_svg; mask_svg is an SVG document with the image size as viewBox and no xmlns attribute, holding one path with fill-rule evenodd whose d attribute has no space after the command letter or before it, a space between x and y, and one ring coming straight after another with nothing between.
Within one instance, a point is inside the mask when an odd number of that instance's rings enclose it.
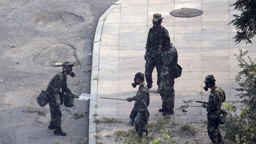
<instances>
[{"instance_id":1,"label":"camouflage trousers of the soldier standing farthest back on the paving","mask_svg":"<svg viewBox=\"0 0 256 144\"><path fill-rule=\"evenodd\" d=\"M152 57L148 54L148 58L145 64L145 78L146 78L147 84L153 83L152 72L155 67L157 69L157 86L160 87L160 83L161 83L160 75L163 69L162 57L161 55Z\"/></svg>"}]
</instances>

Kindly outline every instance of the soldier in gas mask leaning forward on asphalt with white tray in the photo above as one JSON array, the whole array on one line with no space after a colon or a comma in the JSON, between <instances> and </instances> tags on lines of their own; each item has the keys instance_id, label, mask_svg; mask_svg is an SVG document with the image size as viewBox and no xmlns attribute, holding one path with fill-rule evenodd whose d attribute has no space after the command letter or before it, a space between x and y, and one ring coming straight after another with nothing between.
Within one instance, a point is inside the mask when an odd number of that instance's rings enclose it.
<instances>
[{"instance_id":1,"label":"soldier in gas mask leaning forward on asphalt with white tray","mask_svg":"<svg viewBox=\"0 0 256 144\"><path fill-rule=\"evenodd\" d=\"M79 97L74 92L70 91L67 88L67 75L75 76L75 73L72 71L73 64L69 61L66 61L62 64L62 72L56 74L48 83L48 87L45 92L48 95L48 102L50 105L51 121L48 126L49 129L55 129L55 135L66 136L67 134L61 130L61 110L60 105L63 103L63 96L61 95L60 89L66 94L70 94L75 98Z\"/></svg>"}]
</instances>

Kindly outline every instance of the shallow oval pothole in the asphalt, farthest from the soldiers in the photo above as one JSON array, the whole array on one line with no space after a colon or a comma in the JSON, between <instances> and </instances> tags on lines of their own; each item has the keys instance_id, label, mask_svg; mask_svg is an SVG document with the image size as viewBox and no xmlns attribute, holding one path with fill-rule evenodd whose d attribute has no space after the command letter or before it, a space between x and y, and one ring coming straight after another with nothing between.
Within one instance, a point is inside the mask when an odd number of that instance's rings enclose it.
<instances>
[{"instance_id":1,"label":"shallow oval pothole in the asphalt, farthest from the soldiers","mask_svg":"<svg viewBox=\"0 0 256 144\"><path fill-rule=\"evenodd\" d=\"M36 24L45 27L70 27L83 22L83 17L68 12L45 12L36 18Z\"/></svg>"}]
</instances>

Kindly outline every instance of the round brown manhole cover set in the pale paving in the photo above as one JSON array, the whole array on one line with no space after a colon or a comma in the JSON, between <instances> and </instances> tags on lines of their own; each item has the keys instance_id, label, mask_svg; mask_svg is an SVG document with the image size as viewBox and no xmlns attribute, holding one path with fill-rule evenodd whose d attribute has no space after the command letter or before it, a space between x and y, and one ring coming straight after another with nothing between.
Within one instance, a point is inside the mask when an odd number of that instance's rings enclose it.
<instances>
[{"instance_id":1,"label":"round brown manhole cover set in the pale paving","mask_svg":"<svg viewBox=\"0 0 256 144\"><path fill-rule=\"evenodd\" d=\"M197 9L187 9L187 8L181 8L178 10L173 10L170 12L170 15L176 16L176 17L195 17L197 15L201 15L203 11L197 10Z\"/></svg>"}]
</instances>

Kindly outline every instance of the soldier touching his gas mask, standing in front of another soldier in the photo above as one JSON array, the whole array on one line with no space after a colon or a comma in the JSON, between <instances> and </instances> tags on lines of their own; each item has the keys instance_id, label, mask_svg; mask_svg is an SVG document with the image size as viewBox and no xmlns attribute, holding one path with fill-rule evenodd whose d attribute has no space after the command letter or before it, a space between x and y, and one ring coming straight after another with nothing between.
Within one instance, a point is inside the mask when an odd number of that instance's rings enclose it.
<instances>
[{"instance_id":1,"label":"soldier touching his gas mask, standing in front of another soldier","mask_svg":"<svg viewBox=\"0 0 256 144\"><path fill-rule=\"evenodd\" d=\"M161 85L160 85L160 96L162 97L162 115L174 114L174 98L175 92L174 77L172 75L172 69L178 62L178 53L176 48L170 42L170 37L168 35L163 35L161 37L161 45L158 50L162 55L162 61L164 62L164 67L161 73ZM165 48L165 50L164 50Z\"/></svg>"}]
</instances>

